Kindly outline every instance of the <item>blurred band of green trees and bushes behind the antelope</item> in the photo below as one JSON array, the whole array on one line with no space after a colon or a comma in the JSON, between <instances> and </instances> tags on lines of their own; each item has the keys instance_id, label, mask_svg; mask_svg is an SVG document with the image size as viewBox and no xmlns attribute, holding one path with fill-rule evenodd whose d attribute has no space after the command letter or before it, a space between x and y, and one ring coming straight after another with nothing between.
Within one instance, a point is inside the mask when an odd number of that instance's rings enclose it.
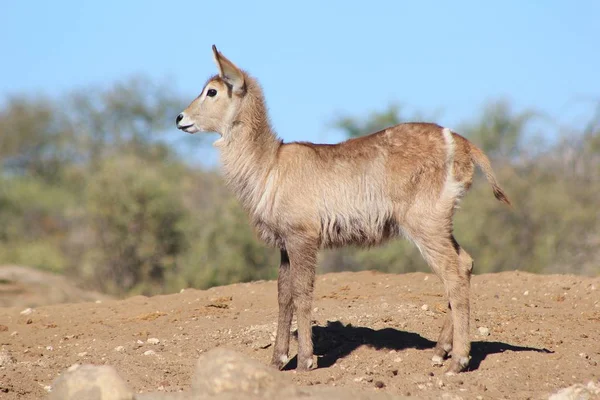
<instances>
[{"instance_id":1,"label":"blurred band of green trees and bushes behind the antelope","mask_svg":"<svg viewBox=\"0 0 600 400\"><path fill-rule=\"evenodd\" d=\"M60 99L16 96L0 108L0 264L64 273L112 294L154 294L276 276L215 170L187 163L173 129L182 99L134 78ZM348 137L407 120L402 107L341 117ZM514 203L483 181L461 203L456 236L476 272L600 273L600 103L559 126L506 101L455 127L492 158ZM558 132L552 140L537 132ZM185 140L185 139L181 139ZM189 142L183 144L190 146ZM427 270L414 246L322 254L321 272Z\"/></svg>"}]
</instances>

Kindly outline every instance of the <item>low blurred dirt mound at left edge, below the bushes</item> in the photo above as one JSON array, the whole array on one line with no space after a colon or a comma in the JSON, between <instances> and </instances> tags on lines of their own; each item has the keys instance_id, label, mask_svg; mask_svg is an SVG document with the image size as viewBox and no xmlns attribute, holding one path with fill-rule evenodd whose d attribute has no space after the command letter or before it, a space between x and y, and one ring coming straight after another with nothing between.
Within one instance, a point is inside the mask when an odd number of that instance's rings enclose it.
<instances>
[{"instance_id":1,"label":"low blurred dirt mound at left edge, below the bushes","mask_svg":"<svg viewBox=\"0 0 600 400\"><path fill-rule=\"evenodd\" d=\"M38 307L109 298L82 290L64 276L17 265L0 266L0 307Z\"/></svg>"}]
</instances>

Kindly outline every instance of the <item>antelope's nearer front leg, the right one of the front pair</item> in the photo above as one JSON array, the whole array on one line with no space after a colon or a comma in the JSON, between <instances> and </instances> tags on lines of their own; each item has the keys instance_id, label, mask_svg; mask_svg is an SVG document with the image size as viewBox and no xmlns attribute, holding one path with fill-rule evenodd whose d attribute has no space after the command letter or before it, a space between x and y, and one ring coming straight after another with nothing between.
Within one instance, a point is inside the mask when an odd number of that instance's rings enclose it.
<instances>
[{"instance_id":1,"label":"antelope's nearer front leg, the right one of the front pair","mask_svg":"<svg viewBox=\"0 0 600 400\"><path fill-rule=\"evenodd\" d=\"M317 264L317 246L303 243L288 249L293 277L293 301L298 322L298 367L313 367L312 300Z\"/></svg>"}]
</instances>

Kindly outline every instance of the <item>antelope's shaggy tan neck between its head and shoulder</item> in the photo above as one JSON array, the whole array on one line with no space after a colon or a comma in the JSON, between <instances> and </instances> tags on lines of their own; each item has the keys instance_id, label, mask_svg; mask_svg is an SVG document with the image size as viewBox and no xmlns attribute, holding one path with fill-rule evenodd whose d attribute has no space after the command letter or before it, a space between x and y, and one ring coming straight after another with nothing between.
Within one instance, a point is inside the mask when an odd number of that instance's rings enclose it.
<instances>
[{"instance_id":1,"label":"antelope's shaggy tan neck between its head and shoulder","mask_svg":"<svg viewBox=\"0 0 600 400\"><path fill-rule=\"evenodd\" d=\"M246 85L240 110L218 147L227 185L254 214L282 142L271 128L260 86L247 76Z\"/></svg>"}]
</instances>

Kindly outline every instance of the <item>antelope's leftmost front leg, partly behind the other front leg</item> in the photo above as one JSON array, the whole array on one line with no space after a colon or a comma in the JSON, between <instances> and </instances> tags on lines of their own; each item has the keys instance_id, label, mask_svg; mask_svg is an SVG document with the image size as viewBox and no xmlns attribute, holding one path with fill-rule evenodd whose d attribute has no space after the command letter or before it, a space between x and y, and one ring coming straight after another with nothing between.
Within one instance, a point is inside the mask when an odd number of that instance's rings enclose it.
<instances>
[{"instance_id":1,"label":"antelope's leftmost front leg, partly behind the other front leg","mask_svg":"<svg viewBox=\"0 0 600 400\"><path fill-rule=\"evenodd\" d=\"M281 250L281 264L277 279L277 297L279 300L279 318L277 320L277 337L273 349L271 364L282 369L288 362L290 348L290 328L292 325L292 273L290 259L285 250Z\"/></svg>"}]
</instances>

